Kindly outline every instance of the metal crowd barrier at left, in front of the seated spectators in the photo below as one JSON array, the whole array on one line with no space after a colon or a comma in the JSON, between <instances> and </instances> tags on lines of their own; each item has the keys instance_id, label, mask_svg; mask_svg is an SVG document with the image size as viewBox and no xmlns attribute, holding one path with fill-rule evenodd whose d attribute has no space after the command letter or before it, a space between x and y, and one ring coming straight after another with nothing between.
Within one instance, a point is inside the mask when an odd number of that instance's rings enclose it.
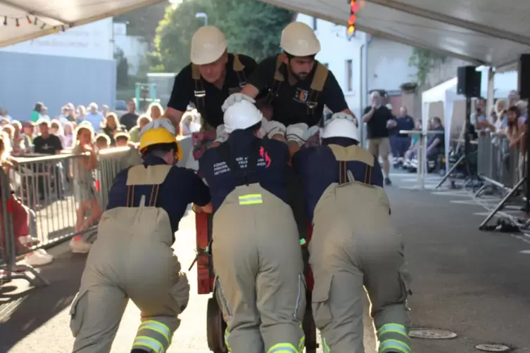
<instances>
[{"instance_id":1,"label":"metal crowd barrier at left, in front of the seated spectators","mask_svg":"<svg viewBox=\"0 0 530 353\"><path fill-rule=\"evenodd\" d=\"M0 285L15 278L24 278L35 286L46 280L32 267L17 264L25 255L41 248L50 248L73 236L94 233L96 225L75 231L80 195L74 194L71 167L85 155L51 155L18 158L13 169L0 172ZM108 191L120 170L140 162L132 148L110 148L99 153L99 165L93 172L94 190L101 210L108 202ZM24 212L27 212L25 214ZM21 220L27 219L27 234ZM21 233L22 232L22 233ZM32 239L22 245L20 238Z\"/></svg>"}]
</instances>

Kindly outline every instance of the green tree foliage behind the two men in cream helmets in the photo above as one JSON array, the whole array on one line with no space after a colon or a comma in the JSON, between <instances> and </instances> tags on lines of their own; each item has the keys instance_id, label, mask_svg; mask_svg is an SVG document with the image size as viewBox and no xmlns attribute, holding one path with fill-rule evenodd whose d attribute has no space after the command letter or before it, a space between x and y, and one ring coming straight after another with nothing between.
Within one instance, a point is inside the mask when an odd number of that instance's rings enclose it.
<instances>
[{"instance_id":1,"label":"green tree foliage behind the two men in cream helmets","mask_svg":"<svg viewBox=\"0 0 530 353\"><path fill-rule=\"evenodd\" d=\"M262 60L279 51L282 29L293 13L256 0L183 0L169 7L156 30L151 70L178 72L189 63L191 37L203 25L196 13L208 14L208 25L225 33L228 50Z\"/></svg>"}]
</instances>

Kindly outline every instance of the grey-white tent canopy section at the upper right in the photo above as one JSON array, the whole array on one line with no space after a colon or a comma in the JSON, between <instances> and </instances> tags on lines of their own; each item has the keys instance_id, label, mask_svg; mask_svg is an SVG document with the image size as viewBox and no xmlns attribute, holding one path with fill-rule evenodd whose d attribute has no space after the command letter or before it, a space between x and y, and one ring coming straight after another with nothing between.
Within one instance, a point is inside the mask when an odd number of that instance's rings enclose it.
<instances>
[{"instance_id":1,"label":"grey-white tent canopy section at the upper right","mask_svg":"<svg viewBox=\"0 0 530 353\"><path fill-rule=\"evenodd\" d=\"M262 0L340 25L347 0ZM530 52L528 1L358 0L356 28L476 65L502 67ZM364 4L362 4L364 3Z\"/></svg>"}]
</instances>

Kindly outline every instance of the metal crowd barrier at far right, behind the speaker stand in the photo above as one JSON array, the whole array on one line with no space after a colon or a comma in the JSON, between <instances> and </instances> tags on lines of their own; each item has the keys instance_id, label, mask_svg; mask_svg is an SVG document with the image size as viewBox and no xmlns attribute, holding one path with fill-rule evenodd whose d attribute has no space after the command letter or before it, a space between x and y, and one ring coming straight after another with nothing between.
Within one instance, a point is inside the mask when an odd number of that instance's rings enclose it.
<instances>
[{"instance_id":1,"label":"metal crowd barrier at far right, behind the speaker stand","mask_svg":"<svg viewBox=\"0 0 530 353\"><path fill-rule=\"evenodd\" d=\"M510 148L506 136L488 131L481 131L478 146L478 173L484 184L474 197L480 197L486 189L499 191L503 199L493 207L479 229L486 225L503 209L510 198L517 195L524 186L524 163L519 168L519 146ZM523 157L524 158L524 157Z\"/></svg>"}]
</instances>

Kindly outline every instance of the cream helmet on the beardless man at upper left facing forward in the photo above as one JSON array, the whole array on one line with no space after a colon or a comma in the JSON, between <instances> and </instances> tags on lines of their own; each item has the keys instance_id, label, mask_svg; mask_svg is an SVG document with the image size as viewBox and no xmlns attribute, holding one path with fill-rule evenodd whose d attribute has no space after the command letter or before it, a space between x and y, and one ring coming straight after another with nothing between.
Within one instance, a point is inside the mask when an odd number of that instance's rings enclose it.
<instances>
[{"instance_id":1,"label":"cream helmet on the beardless man at upper left facing forward","mask_svg":"<svg viewBox=\"0 0 530 353\"><path fill-rule=\"evenodd\" d=\"M191 38L191 63L195 65L211 64L227 50L225 34L214 26L204 26Z\"/></svg>"}]
</instances>

